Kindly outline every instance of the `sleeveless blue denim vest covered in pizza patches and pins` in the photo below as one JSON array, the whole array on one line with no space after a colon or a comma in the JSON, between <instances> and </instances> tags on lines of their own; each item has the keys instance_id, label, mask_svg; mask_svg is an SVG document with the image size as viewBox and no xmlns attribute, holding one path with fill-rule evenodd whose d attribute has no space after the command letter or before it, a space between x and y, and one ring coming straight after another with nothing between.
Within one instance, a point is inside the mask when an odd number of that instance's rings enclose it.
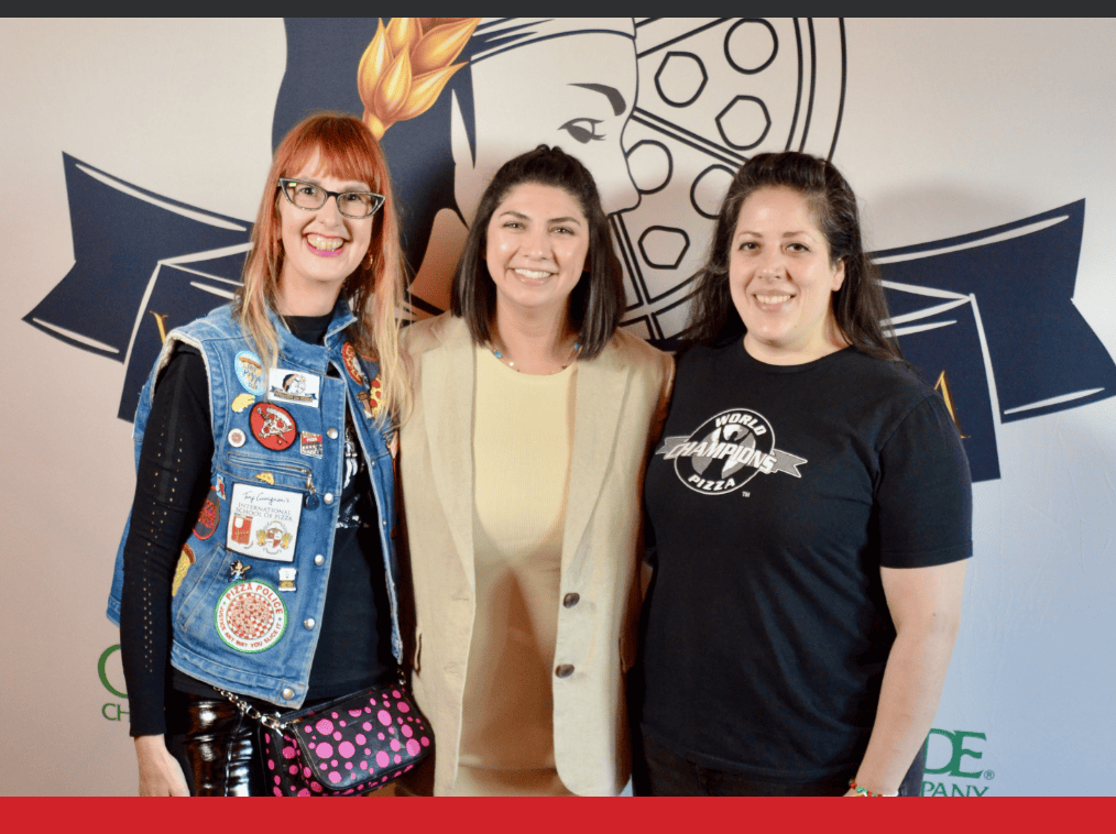
<instances>
[{"instance_id":1,"label":"sleeveless blue denim vest covered in pizza patches and pins","mask_svg":"<svg viewBox=\"0 0 1116 834\"><path fill-rule=\"evenodd\" d=\"M279 359L269 378L229 306L171 331L140 395L133 439L138 465L155 380L176 342L196 348L209 376L211 489L179 557L171 662L213 686L297 708L306 697L333 561L346 408L375 494L392 653L402 661L391 535L395 485L384 437L389 429L368 416L378 399L378 368L348 341L345 328L356 320L348 306L338 300L325 346L296 339L277 316L270 318ZM116 624L128 526L108 598L108 619Z\"/></svg>"}]
</instances>

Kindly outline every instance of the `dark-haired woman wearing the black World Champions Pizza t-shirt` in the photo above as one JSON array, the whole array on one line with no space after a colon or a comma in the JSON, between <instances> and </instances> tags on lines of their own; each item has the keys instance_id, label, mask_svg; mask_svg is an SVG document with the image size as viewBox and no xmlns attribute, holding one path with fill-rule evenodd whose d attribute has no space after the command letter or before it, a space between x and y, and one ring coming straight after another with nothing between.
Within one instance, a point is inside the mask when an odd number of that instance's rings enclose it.
<instances>
[{"instance_id":1,"label":"dark-haired woman wearing the black World Champions Pizza t-shirt","mask_svg":"<svg viewBox=\"0 0 1116 834\"><path fill-rule=\"evenodd\" d=\"M972 497L886 319L844 177L750 159L647 471L637 794L920 793Z\"/></svg>"}]
</instances>

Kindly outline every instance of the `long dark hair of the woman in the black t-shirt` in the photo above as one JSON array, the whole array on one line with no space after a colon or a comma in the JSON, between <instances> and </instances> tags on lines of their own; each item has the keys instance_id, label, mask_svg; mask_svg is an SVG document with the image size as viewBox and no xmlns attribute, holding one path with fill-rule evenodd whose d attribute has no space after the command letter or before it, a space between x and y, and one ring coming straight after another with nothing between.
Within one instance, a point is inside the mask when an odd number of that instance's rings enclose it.
<instances>
[{"instance_id":1,"label":"long dark hair of the woman in the black t-shirt","mask_svg":"<svg viewBox=\"0 0 1116 834\"><path fill-rule=\"evenodd\" d=\"M696 278L684 345L728 345L747 328L729 293L732 235L744 202L760 188L792 188L809 203L829 246L829 262L845 264L845 281L833 294L834 320L853 347L869 356L903 362L903 353L882 321L889 319L887 299L875 264L864 252L856 195L827 159L788 151L757 154L737 172L713 225L709 258Z\"/></svg>"}]
</instances>

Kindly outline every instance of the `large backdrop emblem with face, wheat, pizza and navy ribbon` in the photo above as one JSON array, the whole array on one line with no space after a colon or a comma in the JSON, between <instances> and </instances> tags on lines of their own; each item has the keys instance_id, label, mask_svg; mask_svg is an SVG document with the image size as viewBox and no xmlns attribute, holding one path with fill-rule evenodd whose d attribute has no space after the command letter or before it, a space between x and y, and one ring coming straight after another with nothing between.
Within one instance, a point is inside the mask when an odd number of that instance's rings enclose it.
<instances>
[{"instance_id":1,"label":"large backdrop emblem with face, wheat, pizza and navy ribbon","mask_svg":"<svg viewBox=\"0 0 1116 834\"><path fill-rule=\"evenodd\" d=\"M841 142L841 19L302 18L285 28L273 143L321 109L352 113L379 138L414 274L406 319L448 309L489 178L545 143L597 181L624 268L623 326L672 348L740 165L768 151L833 157ZM124 363L117 414L131 421L166 332L232 298L252 224L61 162L75 263L23 321ZM942 391L974 481L1000 476L1000 425L1116 394L1116 363L1071 301L1084 223L1081 200L874 255L888 323ZM1041 310L1029 304L1040 291Z\"/></svg>"}]
</instances>

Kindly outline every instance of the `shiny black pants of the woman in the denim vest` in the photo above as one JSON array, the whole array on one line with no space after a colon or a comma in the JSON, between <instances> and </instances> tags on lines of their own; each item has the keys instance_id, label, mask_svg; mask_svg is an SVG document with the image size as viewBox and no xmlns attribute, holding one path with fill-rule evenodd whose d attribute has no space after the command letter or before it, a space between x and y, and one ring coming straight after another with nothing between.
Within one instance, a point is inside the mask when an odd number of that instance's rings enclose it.
<instances>
[{"instance_id":1,"label":"shiny black pants of the woman in the denim vest","mask_svg":"<svg viewBox=\"0 0 1116 834\"><path fill-rule=\"evenodd\" d=\"M259 723L220 697L170 695L166 749L182 765L190 795L270 795L259 753ZM257 706L275 710L264 701Z\"/></svg>"}]
</instances>

